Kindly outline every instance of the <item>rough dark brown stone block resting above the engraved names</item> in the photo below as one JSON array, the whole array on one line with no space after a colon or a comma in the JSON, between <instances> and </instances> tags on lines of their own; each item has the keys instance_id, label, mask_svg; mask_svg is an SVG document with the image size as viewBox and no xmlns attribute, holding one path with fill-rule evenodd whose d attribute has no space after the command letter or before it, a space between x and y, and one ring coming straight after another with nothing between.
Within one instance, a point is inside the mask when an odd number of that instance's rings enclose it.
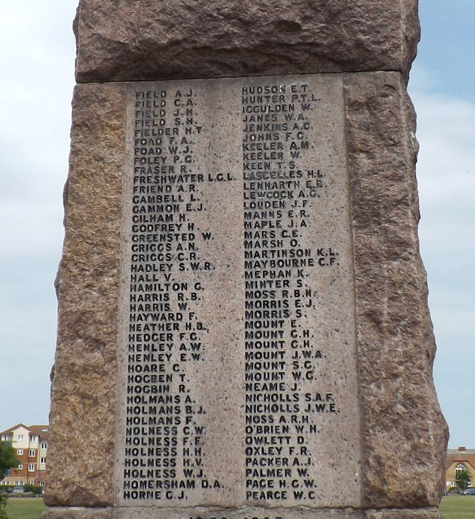
<instances>
[{"instance_id":1,"label":"rough dark brown stone block resting above the engraved names","mask_svg":"<svg viewBox=\"0 0 475 519\"><path fill-rule=\"evenodd\" d=\"M78 82L400 71L418 0L80 0Z\"/></svg>"}]
</instances>

